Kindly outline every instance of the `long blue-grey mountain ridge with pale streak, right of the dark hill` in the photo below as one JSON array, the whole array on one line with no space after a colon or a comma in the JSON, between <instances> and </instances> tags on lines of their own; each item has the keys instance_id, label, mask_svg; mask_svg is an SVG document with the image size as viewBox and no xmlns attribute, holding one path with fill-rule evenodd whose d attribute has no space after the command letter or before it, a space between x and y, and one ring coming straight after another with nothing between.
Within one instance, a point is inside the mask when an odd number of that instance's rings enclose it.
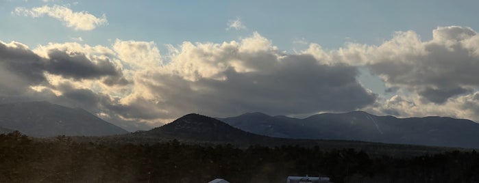
<instances>
[{"instance_id":1,"label":"long blue-grey mountain ridge with pale streak, right of the dark hill","mask_svg":"<svg viewBox=\"0 0 479 183\"><path fill-rule=\"evenodd\" d=\"M241 130L270 137L479 148L479 124L451 117L397 118L352 111L304 119L262 113L218 119Z\"/></svg>"}]
</instances>

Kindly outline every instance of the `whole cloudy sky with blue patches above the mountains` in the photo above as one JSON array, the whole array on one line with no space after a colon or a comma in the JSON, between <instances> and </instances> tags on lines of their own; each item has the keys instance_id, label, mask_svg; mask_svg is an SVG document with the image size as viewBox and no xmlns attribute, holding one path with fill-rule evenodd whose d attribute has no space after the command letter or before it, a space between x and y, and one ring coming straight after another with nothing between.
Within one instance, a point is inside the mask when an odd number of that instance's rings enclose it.
<instances>
[{"instance_id":1,"label":"whole cloudy sky with blue patches above the mountains","mask_svg":"<svg viewBox=\"0 0 479 183\"><path fill-rule=\"evenodd\" d=\"M479 122L478 1L0 0L0 103L127 130L186 113Z\"/></svg>"}]
</instances>

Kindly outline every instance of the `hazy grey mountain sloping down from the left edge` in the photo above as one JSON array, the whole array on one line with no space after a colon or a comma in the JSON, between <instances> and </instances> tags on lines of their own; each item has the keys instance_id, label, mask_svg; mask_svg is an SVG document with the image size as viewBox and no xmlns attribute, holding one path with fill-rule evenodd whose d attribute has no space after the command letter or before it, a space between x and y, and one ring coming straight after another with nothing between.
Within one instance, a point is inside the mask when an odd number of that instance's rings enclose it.
<instances>
[{"instance_id":1,"label":"hazy grey mountain sloping down from the left edge","mask_svg":"<svg viewBox=\"0 0 479 183\"><path fill-rule=\"evenodd\" d=\"M105 122L84 109L72 109L49 102L0 104L0 126L19 130L32 137L127 133L126 130Z\"/></svg>"}]
</instances>

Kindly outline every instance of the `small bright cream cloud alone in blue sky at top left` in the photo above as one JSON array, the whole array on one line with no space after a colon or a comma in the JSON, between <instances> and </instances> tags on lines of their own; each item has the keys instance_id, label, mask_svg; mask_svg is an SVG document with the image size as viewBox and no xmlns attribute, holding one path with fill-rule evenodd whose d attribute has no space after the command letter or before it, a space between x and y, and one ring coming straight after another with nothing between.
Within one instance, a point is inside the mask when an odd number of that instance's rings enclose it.
<instances>
[{"instance_id":1,"label":"small bright cream cloud alone in blue sky at top left","mask_svg":"<svg viewBox=\"0 0 479 183\"><path fill-rule=\"evenodd\" d=\"M19 16L31 16L33 18L47 15L62 21L65 23L66 27L73 27L73 29L81 31L90 31L97 26L106 25L108 23L105 14L101 17L97 17L88 12L73 12L70 8L60 5L44 5L32 9L17 7L15 8L14 13Z\"/></svg>"}]
</instances>

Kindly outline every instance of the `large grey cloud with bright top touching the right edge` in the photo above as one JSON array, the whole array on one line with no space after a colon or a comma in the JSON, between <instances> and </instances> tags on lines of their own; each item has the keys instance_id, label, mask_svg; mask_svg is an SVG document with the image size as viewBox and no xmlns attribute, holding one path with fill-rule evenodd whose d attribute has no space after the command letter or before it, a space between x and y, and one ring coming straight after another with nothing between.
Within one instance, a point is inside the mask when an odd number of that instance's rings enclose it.
<instances>
[{"instance_id":1,"label":"large grey cloud with bright top touching the right edge","mask_svg":"<svg viewBox=\"0 0 479 183\"><path fill-rule=\"evenodd\" d=\"M468 27L438 27L422 42L413 32L398 33L375 48L369 68L393 87L405 87L443 103L479 86L477 33Z\"/></svg>"}]
</instances>

